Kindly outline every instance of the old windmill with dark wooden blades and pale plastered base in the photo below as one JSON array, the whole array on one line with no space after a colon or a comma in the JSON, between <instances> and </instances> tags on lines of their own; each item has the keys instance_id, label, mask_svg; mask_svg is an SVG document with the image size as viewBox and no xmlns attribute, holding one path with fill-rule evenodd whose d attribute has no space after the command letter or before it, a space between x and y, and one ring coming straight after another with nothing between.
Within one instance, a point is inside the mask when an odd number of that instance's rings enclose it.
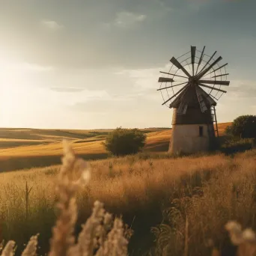
<instances>
[{"instance_id":1,"label":"old windmill with dark wooden blades and pale plastered base","mask_svg":"<svg viewBox=\"0 0 256 256\"><path fill-rule=\"evenodd\" d=\"M174 109L171 153L194 153L210 150L219 137L216 119L216 101L227 91L226 66L222 57L207 55L191 46L179 58L171 58L171 68L159 77L162 105Z\"/></svg>"}]
</instances>

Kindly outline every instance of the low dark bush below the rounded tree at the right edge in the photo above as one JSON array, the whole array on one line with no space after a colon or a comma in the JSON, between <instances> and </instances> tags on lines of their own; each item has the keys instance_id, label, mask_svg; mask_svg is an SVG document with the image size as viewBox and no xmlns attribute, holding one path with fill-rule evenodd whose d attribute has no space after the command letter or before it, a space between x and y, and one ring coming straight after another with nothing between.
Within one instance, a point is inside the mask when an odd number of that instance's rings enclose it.
<instances>
[{"instance_id":1,"label":"low dark bush below the rounded tree at the right edge","mask_svg":"<svg viewBox=\"0 0 256 256\"><path fill-rule=\"evenodd\" d=\"M254 138L240 138L238 140L233 138L222 144L221 151L225 154L232 154L251 150L253 147Z\"/></svg>"}]
</instances>

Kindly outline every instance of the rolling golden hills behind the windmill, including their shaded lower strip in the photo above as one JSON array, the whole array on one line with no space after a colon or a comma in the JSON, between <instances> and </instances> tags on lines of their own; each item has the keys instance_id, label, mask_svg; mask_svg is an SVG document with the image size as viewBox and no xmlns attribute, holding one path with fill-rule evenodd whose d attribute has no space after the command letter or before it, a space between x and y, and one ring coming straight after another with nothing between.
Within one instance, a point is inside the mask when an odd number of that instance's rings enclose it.
<instances>
[{"instance_id":1,"label":"rolling golden hills behind the windmill, including their shaded lower strip","mask_svg":"<svg viewBox=\"0 0 256 256\"><path fill-rule=\"evenodd\" d=\"M219 124L220 135L231 123ZM147 133L145 151L168 150L171 129L142 129ZM73 149L85 159L106 158L103 147L111 129L0 129L0 171L60 163L63 138L73 141Z\"/></svg>"}]
</instances>

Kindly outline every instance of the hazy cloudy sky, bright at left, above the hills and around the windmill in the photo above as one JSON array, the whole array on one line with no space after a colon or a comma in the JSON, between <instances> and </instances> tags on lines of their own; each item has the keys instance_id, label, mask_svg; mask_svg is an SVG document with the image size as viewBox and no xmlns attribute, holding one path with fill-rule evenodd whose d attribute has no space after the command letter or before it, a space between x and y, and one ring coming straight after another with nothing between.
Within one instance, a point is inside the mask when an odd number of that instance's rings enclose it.
<instances>
[{"instance_id":1,"label":"hazy cloudy sky, bright at left, above the hills and around the windmill","mask_svg":"<svg viewBox=\"0 0 256 256\"><path fill-rule=\"evenodd\" d=\"M228 62L219 122L256 113L255 0L0 0L0 127L171 127L159 71Z\"/></svg>"}]
</instances>

